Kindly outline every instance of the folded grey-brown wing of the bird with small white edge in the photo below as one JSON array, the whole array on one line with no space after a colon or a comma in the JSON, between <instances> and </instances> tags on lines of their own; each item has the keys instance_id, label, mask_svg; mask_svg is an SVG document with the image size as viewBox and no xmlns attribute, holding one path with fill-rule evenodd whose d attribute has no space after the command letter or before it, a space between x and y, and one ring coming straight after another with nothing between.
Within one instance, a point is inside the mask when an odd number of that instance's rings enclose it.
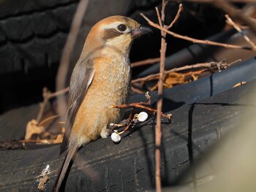
<instances>
[{"instance_id":1,"label":"folded grey-brown wing of the bird with small white edge","mask_svg":"<svg viewBox=\"0 0 256 192\"><path fill-rule=\"evenodd\" d=\"M61 153L66 150L69 143L69 137L71 129L75 120L75 116L78 112L80 104L82 103L89 85L94 77L94 64L93 60L84 58L78 60L78 64L72 72L70 85L69 85L69 101L67 104L67 116L66 116L66 130L64 133L63 141L61 143Z\"/></svg>"}]
</instances>

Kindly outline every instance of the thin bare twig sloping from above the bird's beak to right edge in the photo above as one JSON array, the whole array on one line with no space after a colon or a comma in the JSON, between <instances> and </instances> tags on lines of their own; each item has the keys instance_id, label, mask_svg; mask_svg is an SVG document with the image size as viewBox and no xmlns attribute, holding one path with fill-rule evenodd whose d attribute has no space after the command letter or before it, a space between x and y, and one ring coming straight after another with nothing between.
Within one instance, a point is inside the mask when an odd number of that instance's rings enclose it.
<instances>
[{"instance_id":1,"label":"thin bare twig sloping from above the bird's beak to right edge","mask_svg":"<svg viewBox=\"0 0 256 192\"><path fill-rule=\"evenodd\" d=\"M157 23L152 22L143 13L140 13L140 15L143 16L143 18L146 21L148 21L148 24L150 26L153 26L154 28L158 28L159 30L164 31L167 34L170 34L173 37L176 37L176 38L179 38L179 39L184 39L184 40L187 40L187 41L193 42L193 43L200 43L200 44L206 44L206 45L215 45L215 46L227 47L227 48L233 48L233 49L256 51L255 49L252 49L252 47L244 47L244 46L240 46L240 45L230 45L230 44L225 44L225 43L220 43L220 42L212 42L212 41L209 41L209 40L200 40L200 39L195 39L195 38L192 38L192 37L187 37L187 36L183 36L183 35L180 35L180 34L176 34L173 31L169 31L166 28L162 28Z\"/></svg>"}]
</instances>

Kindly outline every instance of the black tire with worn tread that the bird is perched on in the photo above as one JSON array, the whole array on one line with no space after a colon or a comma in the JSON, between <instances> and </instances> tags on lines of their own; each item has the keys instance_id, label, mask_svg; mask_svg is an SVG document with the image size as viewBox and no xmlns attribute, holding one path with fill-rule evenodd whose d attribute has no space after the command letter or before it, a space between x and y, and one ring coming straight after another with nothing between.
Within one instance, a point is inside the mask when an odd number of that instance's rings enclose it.
<instances>
[{"instance_id":1,"label":"black tire with worn tread that the bird is perched on","mask_svg":"<svg viewBox=\"0 0 256 192\"><path fill-rule=\"evenodd\" d=\"M245 99L256 82L220 93L172 111L173 120L162 125L162 183L175 185L197 158L246 116ZM229 148L225 148L228 150ZM37 150L0 151L1 191L36 191L37 176L50 165L50 191L64 155L59 145ZM214 159L209 166L217 165ZM198 172L200 179L214 169ZM88 175L89 174L89 175ZM146 191L154 188L154 123L124 137L118 145L98 139L82 147L67 178L66 191Z\"/></svg>"}]
</instances>

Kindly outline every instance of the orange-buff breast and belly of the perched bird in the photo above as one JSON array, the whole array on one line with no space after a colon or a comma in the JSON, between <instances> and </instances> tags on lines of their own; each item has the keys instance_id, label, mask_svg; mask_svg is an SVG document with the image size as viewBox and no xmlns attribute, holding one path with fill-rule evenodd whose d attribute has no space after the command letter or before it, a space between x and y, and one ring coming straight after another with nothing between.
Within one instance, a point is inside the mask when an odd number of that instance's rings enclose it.
<instances>
[{"instance_id":1,"label":"orange-buff breast and belly of the perched bird","mask_svg":"<svg viewBox=\"0 0 256 192\"><path fill-rule=\"evenodd\" d=\"M117 57L114 53L95 58L94 69L94 79L72 127L72 133L82 135L83 142L97 139L104 126L120 120L120 110L110 108L110 105L124 104L129 95L129 58ZM71 134L70 139L72 135L75 134Z\"/></svg>"}]
</instances>

